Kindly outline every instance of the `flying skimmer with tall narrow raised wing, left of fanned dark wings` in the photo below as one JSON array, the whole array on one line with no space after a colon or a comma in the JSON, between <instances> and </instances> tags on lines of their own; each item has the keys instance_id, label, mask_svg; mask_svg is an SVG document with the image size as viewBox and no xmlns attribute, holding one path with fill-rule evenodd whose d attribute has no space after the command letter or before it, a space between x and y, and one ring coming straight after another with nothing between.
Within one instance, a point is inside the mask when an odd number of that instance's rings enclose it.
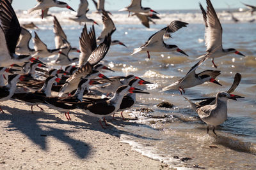
<instances>
[{"instance_id":1,"label":"flying skimmer with tall narrow raised wing, left of fanned dark wings","mask_svg":"<svg viewBox=\"0 0 256 170\"><path fill-rule=\"evenodd\" d=\"M56 48L63 48L63 47L65 47L65 42L68 43L67 35L63 31L58 19L55 16L53 16L53 17L54 17L53 32L55 34L55 38L54 38L55 47ZM70 46L70 47L71 47L70 52L80 53L80 50L78 50L76 47L72 47L72 46Z\"/></svg>"}]
</instances>

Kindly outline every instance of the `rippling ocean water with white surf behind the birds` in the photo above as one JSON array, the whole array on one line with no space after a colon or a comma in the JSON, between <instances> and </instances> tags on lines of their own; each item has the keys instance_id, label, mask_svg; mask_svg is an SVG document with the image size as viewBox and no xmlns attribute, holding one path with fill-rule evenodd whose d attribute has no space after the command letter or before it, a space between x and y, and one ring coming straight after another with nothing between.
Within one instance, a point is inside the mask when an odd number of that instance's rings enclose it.
<instances>
[{"instance_id":1,"label":"rippling ocean water with white surf behind the birds","mask_svg":"<svg viewBox=\"0 0 256 170\"><path fill-rule=\"evenodd\" d=\"M191 110L189 103L184 100L177 90L159 92L163 87L182 78L196 63L196 57L205 53L204 24L200 11L159 11L161 20L150 29L143 27L136 17L128 18L127 13L113 12L116 32L112 39L122 41L124 46L111 46L104 59L104 64L115 70L106 73L108 76L124 76L135 74L154 84L144 87L149 95L138 95L137 104L127 111L134 125L124 127L124 130L136 135L122 135L121 141L129 143L132 148L152 159L160 160L170 167L177 169L212 168L212 169L256 169L256 24L248 22L255 18L249 12L235 12L234 16L240 22L234 23L225 10L218 11L223 27L223 48L236 48L246 57L230 54L215 59L221 74L216 78L223 86L204 83L187 89L184 96L189 99L198 97L214 97L217 92L228 90L234 80L234 75L240 73L242 80L233 94L244 96L244 99L228 101L228 119L216 128L215 136L212 131L207 134L207 125ZM26 11L17 11L21 24L35 22L40 27L38 36L49 48L54 48L54 33L52 18L41 20L37 14L33 17ZM68 36L72 46L79 47L79 36L83 25L71 22L67 18L75 13L65 11L54 12ZM101 16L90 13L89 18L99 22L95 25L96 35L102 30ZM147 41L148 37L159 31L173 20L188 22L172 34L172 39L166 43L175 44L184 50L189 57L172 53L147 53L130 55ZM87 24L89 28L91 24ZM30 44L31 47L33 43ZM70 53L77 57L77 53ZM205 69L215 69L211 60L198 67L196 73ZM143 87L140 87L143 89ZM157 108L157 104L168 101L174 105L171 109ZM136 109L148 108L154 112L143 113ZM115 122L114 122L115 124ZM186 159L189 158L189 159Z\"/></svg>"}]
</instances>

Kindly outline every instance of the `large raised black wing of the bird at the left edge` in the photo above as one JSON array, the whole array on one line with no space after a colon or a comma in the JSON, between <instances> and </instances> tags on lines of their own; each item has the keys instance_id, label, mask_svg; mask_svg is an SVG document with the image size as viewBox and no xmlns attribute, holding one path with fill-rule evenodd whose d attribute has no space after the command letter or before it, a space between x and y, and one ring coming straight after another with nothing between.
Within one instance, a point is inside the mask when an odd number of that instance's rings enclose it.
<instances>
[{"instance_id":1,"label":"large raised black wing of the bird at the left edge","mask_svg":"<svg viewBox=\"0 0 256 170\"><path fill-rule=\"evenodd\" d=\"M0 1L0 20L9 52L15 53L21 27L9 1Z\"/></svg>"}]
</instances>

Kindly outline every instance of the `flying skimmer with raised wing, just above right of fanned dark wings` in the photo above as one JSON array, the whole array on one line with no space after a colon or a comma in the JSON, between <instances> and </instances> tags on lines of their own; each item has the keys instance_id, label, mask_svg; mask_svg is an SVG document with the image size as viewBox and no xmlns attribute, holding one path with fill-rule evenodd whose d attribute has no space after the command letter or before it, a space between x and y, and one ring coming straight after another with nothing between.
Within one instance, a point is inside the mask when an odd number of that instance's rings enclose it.
<instances>
[{"instance_id":1,"label":"flying skimmer with raised wing, just above right of fanned dark wings","mask_svg":"<svg viewBox=\"0 0 256 170\"><path fill-rule=\"evenodd\" d=\"M102 41L106 36L108 36L108 34L112 36L113 32L116 31L116 27L113 20L109 17L108 13L104 10L102 11L102 22L103 22L103 29L100 33L100 36L97 38L97 43L102 43ZM122 43L119 40L111 41L111 45L122 45L127 47L126 45L124 45L124 43Z\"/></svg>"}]
</instances>

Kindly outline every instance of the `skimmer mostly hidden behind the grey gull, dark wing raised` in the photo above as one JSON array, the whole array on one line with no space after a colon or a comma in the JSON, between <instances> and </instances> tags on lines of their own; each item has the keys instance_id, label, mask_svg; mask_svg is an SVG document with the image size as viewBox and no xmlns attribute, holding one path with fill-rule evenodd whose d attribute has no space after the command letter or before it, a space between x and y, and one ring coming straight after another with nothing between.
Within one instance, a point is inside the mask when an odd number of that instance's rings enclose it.
<instances>
[{"instance_id":1,"label":"skimmer mostly hidden behind the grey gull, dark wing raised","mask_svg":"<svg viewBox=\"0 0 256 170\"><path fill-rule=\"evenodd\" d=\"M236 90L237 86L239 85L241 81L241 74L236 73L234 81L230 87L230 89L227 90L227 93L230 94ZM237 98L244 98L241 96L236 96ZM191 101L201 101L200 103L197 103L199 106L205 106L205 105L212 105L215 103L215 97L205 97L205 98L200 98L200 99L190 99Z\"/></svg>"}]
</instances>

